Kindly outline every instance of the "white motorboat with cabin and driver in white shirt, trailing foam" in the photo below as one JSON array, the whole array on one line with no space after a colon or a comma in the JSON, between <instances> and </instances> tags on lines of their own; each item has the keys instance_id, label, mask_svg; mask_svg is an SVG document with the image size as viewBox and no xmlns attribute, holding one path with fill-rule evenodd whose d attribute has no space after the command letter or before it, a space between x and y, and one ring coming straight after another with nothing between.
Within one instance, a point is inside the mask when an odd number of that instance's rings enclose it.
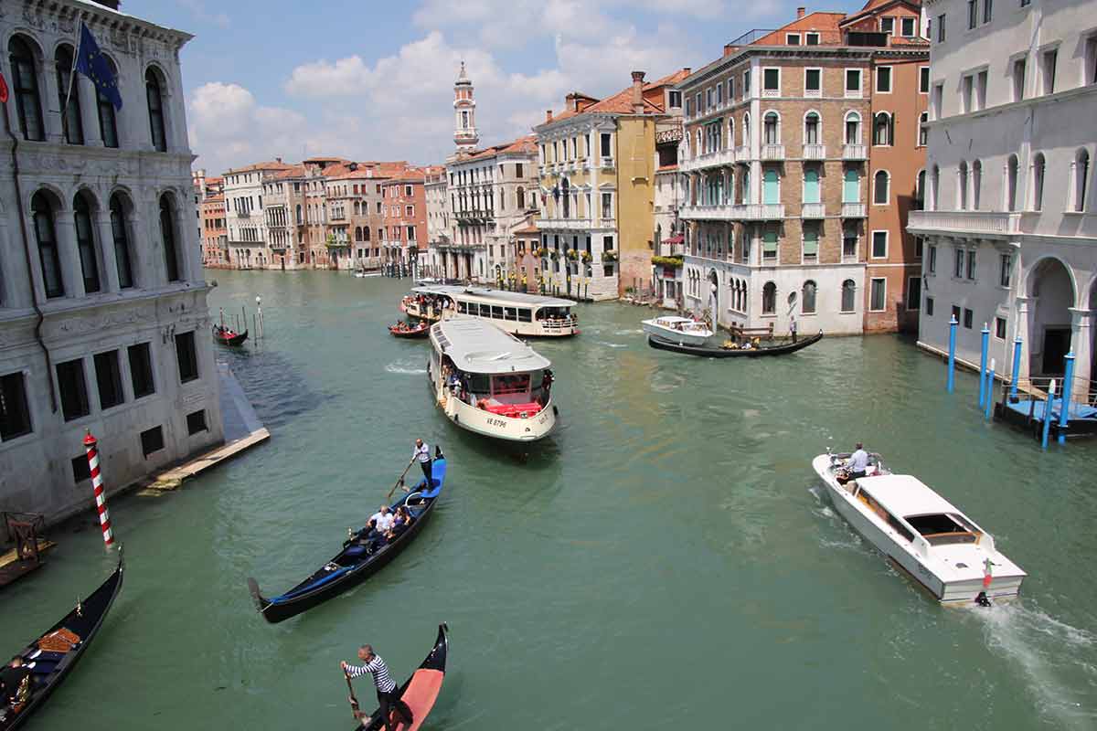
<instances>
[{"instance_id":1,"label":"white motorboat with cabin and driver in white shirt, trailing foam","mask_svg":"<svg viewBox=\"0 0 1097 731\"><path fill-rule=\"evenodd\" d=\"M941 604L988 604L1017 596L1027 575L994 537L909 475L892 475L872 455L866 477L849 479L849 455L812 460L835 509Z\"/></svg>"}]
</instances>

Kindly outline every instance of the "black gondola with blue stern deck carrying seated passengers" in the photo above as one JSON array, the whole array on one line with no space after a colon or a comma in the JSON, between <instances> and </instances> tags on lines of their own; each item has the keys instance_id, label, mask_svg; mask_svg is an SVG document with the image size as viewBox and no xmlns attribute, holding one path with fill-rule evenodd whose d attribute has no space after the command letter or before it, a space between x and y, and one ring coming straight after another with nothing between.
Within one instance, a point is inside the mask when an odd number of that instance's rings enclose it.
<instances>
[{"instance_id":1,"label":"black gondola with blue stern deck carrying seated passengers","mask_svg":"<svg viewBox=\"0 0 1097 731\"><path fill-rule=\"evenodd\" d=\"M442 492L445 482L445 457L438 447L434 449L431 478L434 483L431 489L427 489L426 479L420 479L408 494L392 504L394 511L400 505L406 505L412 518L411 525L392 542L375 549L371 541L366 540L369 528L352 529L351 536L343 541L342 550L331 560L286 593L271 598L259 593L259 584L255 579L248 579L251 597L263 618L274 624L312 609L317 604L357 586L392 561L419 535Z\"/></svg>"}]
</instances>

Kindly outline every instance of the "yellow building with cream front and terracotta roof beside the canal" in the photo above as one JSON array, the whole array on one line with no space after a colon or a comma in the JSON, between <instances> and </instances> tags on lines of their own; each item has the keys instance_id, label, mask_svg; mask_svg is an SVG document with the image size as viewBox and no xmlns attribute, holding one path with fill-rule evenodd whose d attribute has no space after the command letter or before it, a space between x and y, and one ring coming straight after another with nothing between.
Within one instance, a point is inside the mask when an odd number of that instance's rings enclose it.
<instances>
[{"instance_id":1,"label":"yellow building with cream front and terracotta roof beside the canal","mask_svg":"<svg viewBox=\"0 0 1097 731\"><path fill-rule=\"evenodd\" d=\"M633 71L631 87L603 100L570 93L562 113L547 112L534 127L548 288L593 299L651 288L655 127L681 114L672 87L689 72L645 83L644 72Z\"/></svg>"}]
</instances>

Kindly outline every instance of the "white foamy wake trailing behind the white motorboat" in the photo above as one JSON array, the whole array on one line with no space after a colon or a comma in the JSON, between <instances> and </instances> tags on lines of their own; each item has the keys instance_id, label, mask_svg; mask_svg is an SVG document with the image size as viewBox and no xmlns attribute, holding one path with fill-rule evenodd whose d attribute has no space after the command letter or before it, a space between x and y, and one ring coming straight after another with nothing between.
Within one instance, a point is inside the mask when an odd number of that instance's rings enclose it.
<instances>
[{"instance_id":1,"label":"white foamy wake trailing behind the white motorboat","mask_svg":"<svg viewBox=\"0 0 1097 731\"><path fill-rule=\"evenodd\" d=\"M1063 728L1094 728L1097 666L1086 656L1097 648L1097 633L1055 619L1031 599L968 614L983 623L991 651L1022 671L1042 716Z\"/></svg>"}]
</instances>

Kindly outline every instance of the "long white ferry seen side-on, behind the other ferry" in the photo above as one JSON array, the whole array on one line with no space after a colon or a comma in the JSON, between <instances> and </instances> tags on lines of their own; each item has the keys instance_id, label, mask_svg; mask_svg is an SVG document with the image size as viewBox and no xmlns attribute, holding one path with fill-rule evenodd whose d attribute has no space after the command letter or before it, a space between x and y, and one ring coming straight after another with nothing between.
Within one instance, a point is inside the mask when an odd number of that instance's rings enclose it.
<instances>
[{"instance_id":1,"label":"long white ferry seen side-on, behind the other ferry","mask_svg":"<svg viewBox=\"0 0 1097 731\"><path fill-rule=\"evenodd\" d=\"M565 338L579 333L578 318L569 299L542 297L521 292L434 284L411 289L400 301L400 310L411 317L437 322L446 310L468 315L516 335Z\"/></svg>"}]
</instances>

